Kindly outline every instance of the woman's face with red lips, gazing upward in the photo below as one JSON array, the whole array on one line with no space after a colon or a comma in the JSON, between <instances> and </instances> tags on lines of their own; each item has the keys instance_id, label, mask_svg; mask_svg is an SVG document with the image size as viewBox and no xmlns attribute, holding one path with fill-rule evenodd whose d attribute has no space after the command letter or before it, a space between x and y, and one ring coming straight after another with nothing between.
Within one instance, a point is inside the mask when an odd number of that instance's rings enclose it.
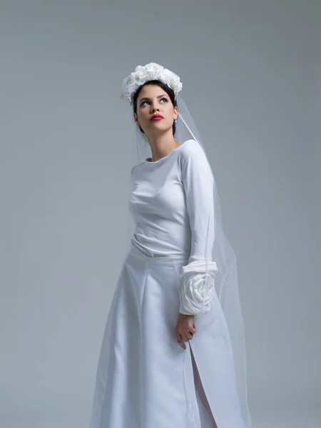
<instances>
[{"instance_id":1,"label":"woman's face with red lips, gazing upward","mask_svg":"<svg viewBox=\"0 0 321 428\"><path fill-rule=\"evenodd\" d=\"M155 114L163 116L161 120L151 121ZM173 121L178 118L178 108L173 106L168 94L158 85L143 86L137 98L137 113L134 118L146 135L163 133L172 129Z\"/></svg>"}]
</instances>

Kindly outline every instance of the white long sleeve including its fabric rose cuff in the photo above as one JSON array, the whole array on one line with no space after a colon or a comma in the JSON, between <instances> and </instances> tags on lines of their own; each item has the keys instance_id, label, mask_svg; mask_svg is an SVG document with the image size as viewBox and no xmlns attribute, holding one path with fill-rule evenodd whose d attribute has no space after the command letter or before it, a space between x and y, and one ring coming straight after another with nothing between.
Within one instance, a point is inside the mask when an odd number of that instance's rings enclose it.
<instances>
[{"instance_id":1,"label":"white long sleeve including its fabric rose cuff","mask_svg":"<svg viewBox=\"0 0 321 428\"><path fill-rule=\"evenodd\" d=\"M200 315L210 310L218 270L212 260L215 239L213 175L205 153L196 141L180 155L191 246L188 265L182 267L176 282L180 294L179 312Z\"/></svg>"}]
</instances>

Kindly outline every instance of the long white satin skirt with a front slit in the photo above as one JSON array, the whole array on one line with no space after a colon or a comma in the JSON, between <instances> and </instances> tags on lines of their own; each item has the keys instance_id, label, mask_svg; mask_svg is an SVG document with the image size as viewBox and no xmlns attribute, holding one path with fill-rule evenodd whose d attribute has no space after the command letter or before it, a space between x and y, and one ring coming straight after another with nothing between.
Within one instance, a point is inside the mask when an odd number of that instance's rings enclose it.
<instances>
[{"instance_id":1,"label":"long white satin skirt with a front slit","mask_svg":"<svg viewBox=\"0 0 321 428\"><path fill-rule=\"evenodd\" d=\"M184 350L175 281L186 258L132 245L111 302L98 360L91 428L244 428L222 308L195 315Z\"/></svg>"}]
</instances>

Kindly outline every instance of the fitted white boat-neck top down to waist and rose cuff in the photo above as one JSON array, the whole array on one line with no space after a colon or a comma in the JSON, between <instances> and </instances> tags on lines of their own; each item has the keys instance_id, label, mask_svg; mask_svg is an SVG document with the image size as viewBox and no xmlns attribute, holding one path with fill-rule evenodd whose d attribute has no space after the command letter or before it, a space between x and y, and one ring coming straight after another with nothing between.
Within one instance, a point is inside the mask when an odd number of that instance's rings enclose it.
<instances>
[{"instance_id":1,"label":"fitted white boat-neck top down to waist and rose cuff","mask_svg":"<svg viewBox=\"0 0 321 428\"><path fill-rule=\"evenodd\" d=\"M135 165L128 210L132 240L144 252L188 256L190 262L211 258L213 176L198 143L185 141L158 161Z\"/></svg>"}]
</instances>

